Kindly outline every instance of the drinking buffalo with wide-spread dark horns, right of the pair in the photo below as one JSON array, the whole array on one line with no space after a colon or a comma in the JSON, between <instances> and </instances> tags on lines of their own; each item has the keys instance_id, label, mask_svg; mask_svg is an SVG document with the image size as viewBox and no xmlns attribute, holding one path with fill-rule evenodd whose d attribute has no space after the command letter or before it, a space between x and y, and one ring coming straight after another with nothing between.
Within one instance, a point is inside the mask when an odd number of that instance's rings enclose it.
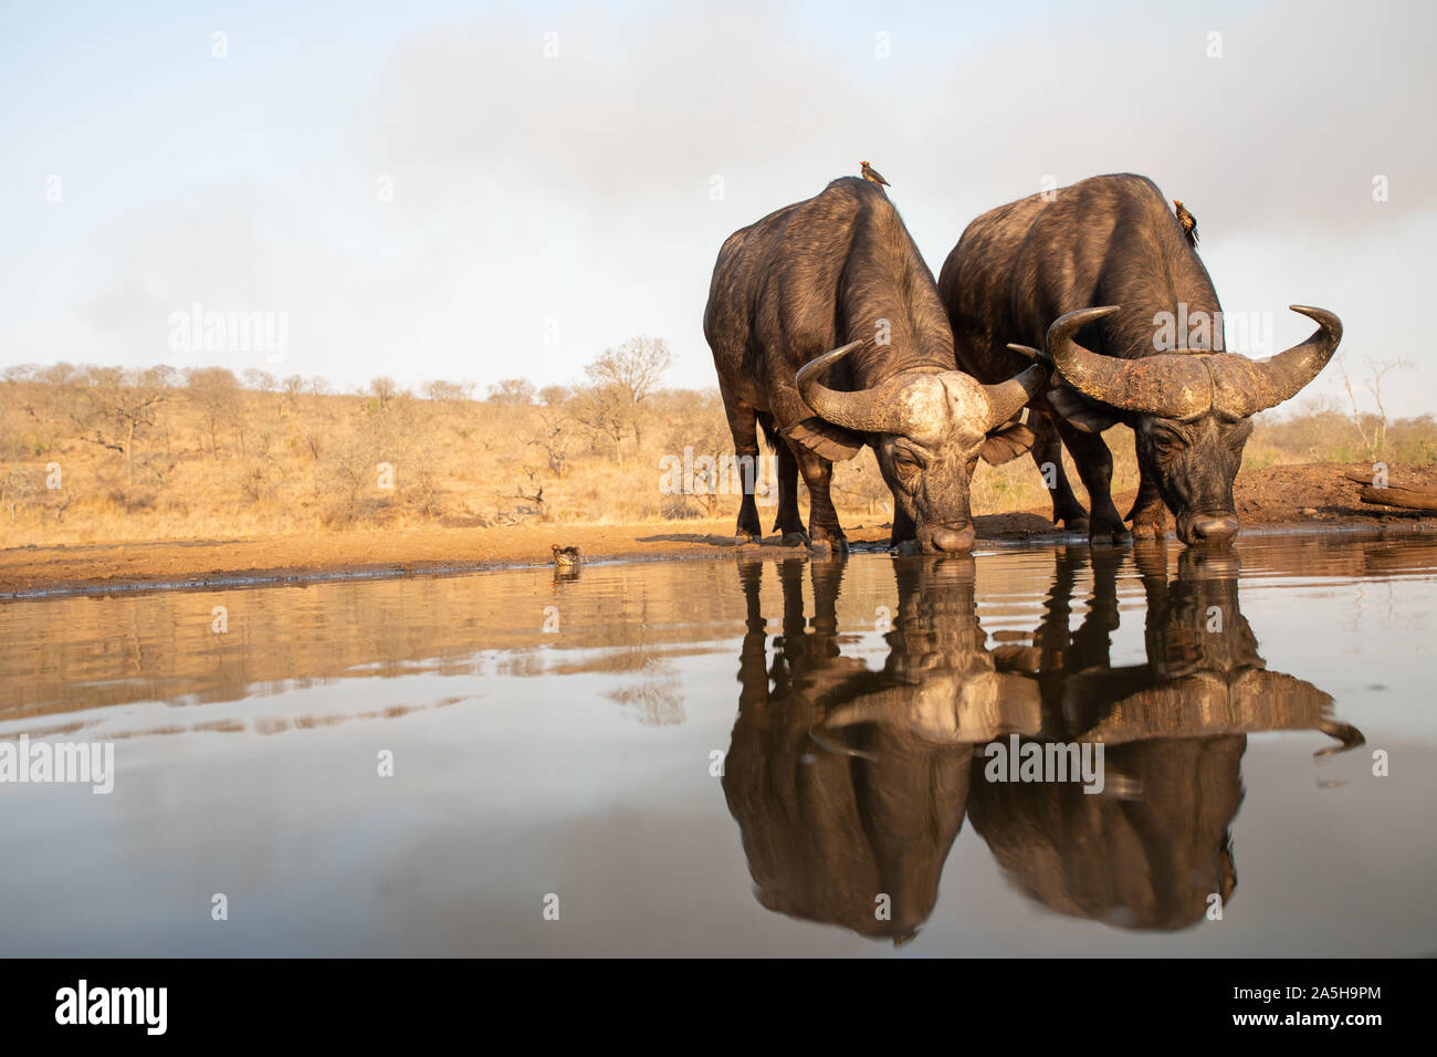
<instances>
[{"instance_id":1,"label":"drinking buffalo with wide-spread dark horns, right of the pair","mask_svg":"<svg viewBox=\"0 0 1437 1057\"><path fill-rule=\"evenodd\" d=\"M1094 541L1131 535L1112 505L1112 456L1102 430L1137 434L1141 482L1128 512L1138 536L1161 536L1164 503L1184 544L1237 534L1233 477L1252 416L1312 381L1342 338L1331 312L1293 305L1318 322L1270 360L1223 352L1213 280L1157 186L1101 175L984 213L963 233L938 278L958 365L1006 377L1022 357L1009 341L1048 349L1061 378L1033 401L1033 460L1053 489L1053 522ZM1168 348L1167 321L1193 319L1188 348ZM1092 502L1083 513L1062 469L1073 456Z\"/></svg>"}]
</instances>

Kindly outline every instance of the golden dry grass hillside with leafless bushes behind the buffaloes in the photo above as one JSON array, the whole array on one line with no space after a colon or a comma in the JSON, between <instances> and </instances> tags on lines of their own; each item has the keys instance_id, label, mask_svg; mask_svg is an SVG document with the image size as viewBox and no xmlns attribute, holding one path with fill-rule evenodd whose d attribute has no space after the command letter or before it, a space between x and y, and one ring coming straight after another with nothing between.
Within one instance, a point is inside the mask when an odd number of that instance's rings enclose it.
<instances>
[{"instance_id":1,"label":"golden dry grass hillside with leafless bushes behind the buffaloes","mask_svg":"<svg viewBox=\"0 0 1437 1057\"><path fill-rule=\"evenodd\" d=\"M415 525L671 523L731 518L736 495L665 495L660 460L730 452L716 391L658 390L625 403L602 385L546 390L376 380L368 393L228 372L10 371L0 383L0 546L234 539ZM148 401L148 403L147 403ZM512 403L513 401L513 403ZM1132 434L1108 434L1114 490L1135 489ZM1394 462L1437 460L1431 417L1391 423ZM1351 418L1315 408L1259 420L1249 467L1357 462ZM1069 462L1069 479L1079 489ZM835 472L848 519L882 515L872 453ZM981 466L974 513L1048 511L1030 459ZM772 511L760 511L766 518Z\"/></svg>"}]
</instances>

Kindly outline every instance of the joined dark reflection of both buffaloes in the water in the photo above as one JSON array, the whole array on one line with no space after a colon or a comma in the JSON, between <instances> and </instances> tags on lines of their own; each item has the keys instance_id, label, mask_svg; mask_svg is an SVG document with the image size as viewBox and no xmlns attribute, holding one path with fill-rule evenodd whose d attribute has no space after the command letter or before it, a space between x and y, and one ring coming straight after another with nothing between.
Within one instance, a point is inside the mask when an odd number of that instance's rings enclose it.
<instances>
[{"instance_id":1,"label":"joined dark reflection of both buffaloes in the water","mask_svg":"<svg viewBox=\"0 0 1437 1057\"><path fill-rule=\"evenodd\" d=\"M740 562L747 633L724 767L759 902L895 943L937 900L967 814L1007 877L1045 906L1132 929L1200 920L1236 886L1230 825L1256 731L1322 731L1332 697L1267 672L1237 607L1237 561L1161 546L1135 554L1147 594L1145 664L1114 669L1118 571L1092 552L1094 591L1069 631L1088 549L1059 552L1032 646L987 647L966 555L894 558L898 605L881 672L839 649L845 561L777 564L782 633L767 664L762 562ZM815 616L803 614L805 567ZM1102 742L1105 792L1078 782L990 782L983 746Z\"/></svg>"}]
</instances>

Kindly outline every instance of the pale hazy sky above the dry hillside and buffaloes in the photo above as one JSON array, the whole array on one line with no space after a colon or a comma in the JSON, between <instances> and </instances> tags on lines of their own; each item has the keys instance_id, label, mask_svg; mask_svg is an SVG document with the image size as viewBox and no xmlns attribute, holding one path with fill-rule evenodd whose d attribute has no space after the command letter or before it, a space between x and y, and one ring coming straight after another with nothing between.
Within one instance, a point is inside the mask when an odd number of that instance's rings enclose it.
<instances>
[{"instance_id":1,"label":"pale hazy sky above the dry hillside and buffaloes","mask_svg":"<svg viewBox=\"0 0 1437 1057\"><path fill-rule=\"evenodd\" d=\"M723 240L868 160L934 273L989 209L1150 175L1229 319L1276 351L1328 308L1431 410L1437 6L1152 7L0 0L0 368L483 391L652 335L713 385ZM187 341L197 305L272 341Z\"/></svg>"}]
</instances>

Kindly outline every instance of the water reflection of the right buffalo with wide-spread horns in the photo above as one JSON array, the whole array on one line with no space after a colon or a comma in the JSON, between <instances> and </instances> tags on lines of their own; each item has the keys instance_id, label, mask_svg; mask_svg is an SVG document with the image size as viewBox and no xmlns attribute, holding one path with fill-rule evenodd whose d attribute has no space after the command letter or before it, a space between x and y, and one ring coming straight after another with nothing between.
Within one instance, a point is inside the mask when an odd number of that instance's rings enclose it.
<instances>
[{"instance_id":1,"label":"water reflection of the right buffalo with wide-spread horns","mask_svg":"<svg viewBox=\"0 0 1437 1057\"><path fill-rule=\"evenodd\" d=\"M1232 824L1243 801L1247 735L1321 731L1318 756L1362 733L1309 682L1269 672L1242 614L1230 552L1164 548L1135 564L1147 595L1147 663L1114 667L1121 552L1092 552L1086 617L1069 630L1082 557L1059 555L1033 646L999 647L1000 670L1042 686L1043 736L1102 742L1105 795L1072 782L986 782L974 774L969 818L1020 890L1059 913L1127 929L1174 930L1204 919L1237 884ZM1221 614L1214 628L1213 614Z\"/></svg>"}]
</instances>

